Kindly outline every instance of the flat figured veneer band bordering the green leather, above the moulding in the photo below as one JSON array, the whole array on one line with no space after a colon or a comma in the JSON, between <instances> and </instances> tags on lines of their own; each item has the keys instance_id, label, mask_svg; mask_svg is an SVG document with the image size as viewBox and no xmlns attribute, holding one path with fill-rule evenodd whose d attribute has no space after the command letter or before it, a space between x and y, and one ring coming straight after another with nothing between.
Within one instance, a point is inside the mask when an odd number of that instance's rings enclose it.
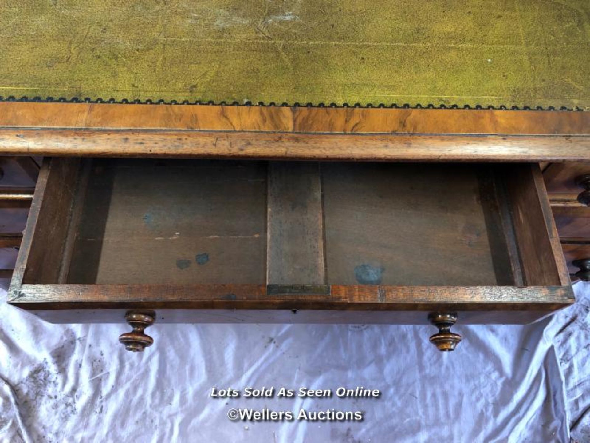
<instances>
[{"instance_id":1,"label":"flat figured veneer band bordering the green leather, above the moulding","mask_svg":"<svg viewBox=\"0 0 590 443\"><path fill-rule=\"evenodd\" d=\"M589 112L0 102L0 127L590 135Z\"/></svg>"}]
</instances>

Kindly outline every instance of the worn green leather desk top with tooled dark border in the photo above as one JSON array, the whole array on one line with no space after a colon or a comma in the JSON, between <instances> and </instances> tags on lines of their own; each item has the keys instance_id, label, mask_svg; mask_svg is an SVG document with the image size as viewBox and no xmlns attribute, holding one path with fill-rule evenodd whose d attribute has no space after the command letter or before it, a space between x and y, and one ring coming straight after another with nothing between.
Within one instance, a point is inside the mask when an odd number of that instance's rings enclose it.
<instances>
[{"instance_id":1,"label":"worn green leather desk top with tooled dark border","mask_svg":"<svg viewBox=\"0 0 590 443\"><path fill-rule=\"evenodd\" d=\"M590 109L589 0L0 0L0 96Z\"/></svg>"}]
</instances>

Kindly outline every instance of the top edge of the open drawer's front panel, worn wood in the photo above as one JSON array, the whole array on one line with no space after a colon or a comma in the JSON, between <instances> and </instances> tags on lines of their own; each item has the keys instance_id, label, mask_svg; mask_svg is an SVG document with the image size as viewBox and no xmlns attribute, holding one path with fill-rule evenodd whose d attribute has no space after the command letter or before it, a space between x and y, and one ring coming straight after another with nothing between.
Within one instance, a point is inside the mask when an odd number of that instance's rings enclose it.
<instances>
[{"instance_id":1,"label":"top edge of the open drawer's front panel, worn wood","mask_svg":"<svg viewBox=\"0 0 590 443\"><path fill-rule=\"evenodd\" d=\"M267 294L266 285L23 285L9 302L28 309L546 310L574 301L571 286L332 285L329 295ZM447 306L448 308L448 306Z\"/></svg>"}]
</instances>

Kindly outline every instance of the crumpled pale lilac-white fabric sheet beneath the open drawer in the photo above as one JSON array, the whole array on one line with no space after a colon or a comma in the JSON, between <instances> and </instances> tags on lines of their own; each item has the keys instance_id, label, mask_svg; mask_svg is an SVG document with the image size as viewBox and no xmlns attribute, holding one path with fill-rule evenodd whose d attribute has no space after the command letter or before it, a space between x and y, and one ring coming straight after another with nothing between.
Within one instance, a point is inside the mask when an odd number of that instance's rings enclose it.
<instances>
[{"instance_id":1,"label":"crumpled pale lilac-white fabric sheet beneath the open drawer","mask_svg":"<svg viewBox=\"0 0 590 443\"><path fill-rule=\"evenodd\" d=\"M2 442L588 442L590 284L535 324L49 324L0 304ZM5 292L3 294L5 300ZM363 386L379 398L212 398L211 389ZM363 421L230 421L231 408L361 411ZM571 440L570 440L571 438Z\"/></svg>"}]
</instances>

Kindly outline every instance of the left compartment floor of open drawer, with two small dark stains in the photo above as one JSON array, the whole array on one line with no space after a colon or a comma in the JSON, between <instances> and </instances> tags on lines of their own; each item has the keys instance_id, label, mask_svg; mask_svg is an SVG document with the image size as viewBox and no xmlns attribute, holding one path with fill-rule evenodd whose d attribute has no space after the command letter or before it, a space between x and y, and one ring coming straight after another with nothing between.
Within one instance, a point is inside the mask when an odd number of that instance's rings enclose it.
<instances>
[{"instance_id":1,"label":"left compartment floor of open drawer, with two small dark stains","mask_svg":"<svg viewBox=\"0 0 590 443\"><path fill-rule=\"evenodd\" d=\"M97 159L88 167L68 283L264 282L264 164Z\"/></svg>"}]
</instances>

